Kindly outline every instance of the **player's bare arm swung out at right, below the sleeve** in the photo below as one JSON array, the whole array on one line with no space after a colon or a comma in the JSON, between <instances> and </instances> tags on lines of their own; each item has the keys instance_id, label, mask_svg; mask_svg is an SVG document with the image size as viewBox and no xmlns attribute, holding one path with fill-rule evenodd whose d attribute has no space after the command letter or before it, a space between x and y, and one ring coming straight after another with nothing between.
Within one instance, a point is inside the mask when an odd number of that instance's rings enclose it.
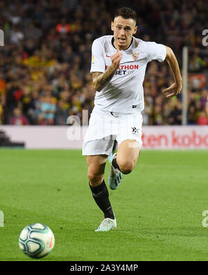
<instances>
[{"instance_id":1,"label":"player's bare arm swung out at right, below the sleeve","mask_svg":"<svg viewBox=\"0 0 208 275\"><path fill-rule=\"evenodd\" d=\"M178 95L182 91L182 77L180 74L179 65L177 63L177 58L175 57L173 50L167 46L166 46L166 61L170 66L171 71L173 72L174 83L170 87L164 89L162 93L168 93L166 97L170 98L170 97L173 97L174 95Z\"/></svg>"}]
</instances>

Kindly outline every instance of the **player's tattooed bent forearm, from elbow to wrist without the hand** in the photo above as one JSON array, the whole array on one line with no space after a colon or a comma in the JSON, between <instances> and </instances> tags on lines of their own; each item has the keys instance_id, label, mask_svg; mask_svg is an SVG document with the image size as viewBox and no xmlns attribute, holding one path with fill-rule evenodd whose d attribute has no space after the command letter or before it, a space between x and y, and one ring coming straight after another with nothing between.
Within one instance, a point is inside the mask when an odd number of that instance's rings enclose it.
<instances>
[{"instance_id":1,"label":"player's tattooed bent forearm, from elbow to wrist without the hand","mask_svg":"<svg viewBox=\"0 0 208 275\"><path fill-rule=\"evenodd\" d=\"M92 83L96 91L100 92L112 79L117 66L111 65L105 72L92 72Z\"/></svg>"}]
</instances>

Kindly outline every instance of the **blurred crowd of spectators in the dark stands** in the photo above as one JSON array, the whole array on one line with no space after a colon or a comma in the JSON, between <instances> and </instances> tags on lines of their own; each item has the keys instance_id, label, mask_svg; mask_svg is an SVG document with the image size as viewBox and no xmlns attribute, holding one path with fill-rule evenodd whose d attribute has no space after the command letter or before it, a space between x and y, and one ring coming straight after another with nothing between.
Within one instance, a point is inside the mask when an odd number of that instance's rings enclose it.
<instances>
[{"instance_id":1,"label":"blurred crowd of spectators in the dark stands","mask_svg":"<svg viewBox=\"0 0 208 275\"><path fill-rule=\"evenodd\" d=\"M0 2L0 124L66 125L94 107L89 73L95 38L112 34L110 22L122 0L42 0ZM190 47L189 72L208 72L202 30L208 29L208 2L132 0L137 37L168 45L182 68L182 48ZM207 39L208 40L208 39ZM208 41L207 41L208 42ZM200 50L202 49L202 51ZM173 83L166 61L148 64L144 79L145 125L180 125L182 97L161 93ZM208 125L208 84L189 82L188 123Z\"/></svg>"}]
</instances>

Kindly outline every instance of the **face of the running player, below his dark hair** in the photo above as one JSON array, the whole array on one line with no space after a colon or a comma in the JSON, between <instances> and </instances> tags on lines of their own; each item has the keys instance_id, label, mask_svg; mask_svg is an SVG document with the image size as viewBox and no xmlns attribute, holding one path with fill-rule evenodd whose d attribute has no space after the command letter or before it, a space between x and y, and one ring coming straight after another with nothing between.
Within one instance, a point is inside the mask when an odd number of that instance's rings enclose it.
<instances>
[{"instance_id":1,"label":"face of the running player, below his dark hair","mask_svg":"<svg viewBox=\"0 0 208 275\"><path fill-rule=\"evenodd\" d=\"M114 32L114 46L116 49L128 49L132 41L132 36L137 33L137 26L134 19L124 19L121 16L115 17L111 23Z\"/></svg>"}]
</instances>

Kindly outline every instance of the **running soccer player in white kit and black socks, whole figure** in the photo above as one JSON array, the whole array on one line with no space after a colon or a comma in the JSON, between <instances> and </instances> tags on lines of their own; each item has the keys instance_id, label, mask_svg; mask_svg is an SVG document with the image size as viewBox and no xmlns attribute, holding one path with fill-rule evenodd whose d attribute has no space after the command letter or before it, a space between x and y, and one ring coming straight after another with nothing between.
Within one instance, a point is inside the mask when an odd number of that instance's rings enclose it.
<instances>
[{"instance_id":1,"label":"running soccer player in white kit and black socks, whole figure","mask_svg":"<svg viewBox=\"0 0 208 275\"><path fill-rule=\"evenodd\" d=\"M143 81L146 65L152 60L166 60L174 83L162 91L167 98L182 90L182 77L175 54L170 47L135 38L137 14L131 8L116 10L111 23L113 36L103 36L92 44L91 73L96 90L94 109L83 142L87 156L89 187L104 219L95 231L116 228L116 218L104 181L105 163L114 140L108 184L117 189L122 175L131 173L142 146L141 127L144 109Z\"/></svg>"}]
</instances>

